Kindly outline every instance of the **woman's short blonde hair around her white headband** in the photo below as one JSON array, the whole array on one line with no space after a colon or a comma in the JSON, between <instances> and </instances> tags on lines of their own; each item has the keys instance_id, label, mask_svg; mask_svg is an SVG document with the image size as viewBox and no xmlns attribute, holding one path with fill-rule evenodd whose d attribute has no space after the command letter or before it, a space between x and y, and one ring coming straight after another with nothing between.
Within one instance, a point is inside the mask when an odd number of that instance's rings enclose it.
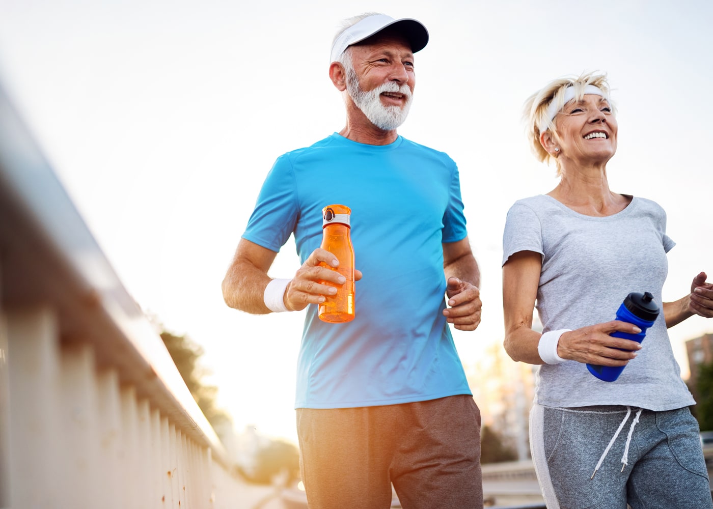
<instances>
[{"instance_id":1,"label":"woman's short blonde hair around her white headband","mask_svg":"<svg viewBox=\"0 0 713 509\"><path fill-rule=\"evenodd\" d=\"M615 107L609 97L610 88L607 82L607 75L597 71L591 73L583 73L581 76L565 76L556 80L550 81L539 91L533 93L532 96L525 101L523 109L523 120L525 121L525 132L528 137L528 143L533 150L535 157L543 163L550 163L552 156L540 143L540 126L546 126L543 131L550 130L555 138L555 120L548 118L548 110L550 104L557 105L557 111L565 106L565 91L573 87L575 100L581 101L585 95L585 88L588 85L593 85L599 88L604 93L605 98L609 101L609 106L612 108L612 114L615 114ZM555 163L557 160L555 158ZM557 164L557 174L560 175L560 167Z\"/></svg>"}]
</instances>

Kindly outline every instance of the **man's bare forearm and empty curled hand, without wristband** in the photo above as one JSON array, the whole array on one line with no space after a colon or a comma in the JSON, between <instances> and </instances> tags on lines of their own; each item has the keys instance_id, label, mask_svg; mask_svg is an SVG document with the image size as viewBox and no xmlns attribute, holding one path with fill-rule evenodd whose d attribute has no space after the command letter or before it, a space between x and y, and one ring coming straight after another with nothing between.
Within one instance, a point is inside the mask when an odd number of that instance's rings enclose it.
<instances>
[{"instance_id":1,"label":"man's bare forearm and empty curled hand, without wristband","mask_svg":"<svg viewBox=\"0 0 713 509\"><path fill-rule=\"evenodd\" d=\"M443 309L448 323L461 331L474 331L481 323L481 271L468 237L443 243L443 273L446 275L448 306Z\"/></svg>"}]
</instances>

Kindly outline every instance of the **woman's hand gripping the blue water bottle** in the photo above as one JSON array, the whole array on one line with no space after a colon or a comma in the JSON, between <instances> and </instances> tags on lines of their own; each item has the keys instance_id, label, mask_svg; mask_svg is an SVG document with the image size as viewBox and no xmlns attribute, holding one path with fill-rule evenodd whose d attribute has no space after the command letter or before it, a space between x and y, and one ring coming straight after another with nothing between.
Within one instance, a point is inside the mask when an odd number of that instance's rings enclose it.
<instances>
[{"instance_id":1,"label":"woman's hand gripping the blue water bottle","mask_svg":"<svg viewBox=\"0 0 713 509\"><path fill-rule=\"evenodd\" d=\"M598 366L626 366L637 355L641 345L631 339L610 336L621 331L638 334L641 329L634 324L613 320L568 331L560 336L557 354L583 364Z\"/></svg>"}]
</instances>

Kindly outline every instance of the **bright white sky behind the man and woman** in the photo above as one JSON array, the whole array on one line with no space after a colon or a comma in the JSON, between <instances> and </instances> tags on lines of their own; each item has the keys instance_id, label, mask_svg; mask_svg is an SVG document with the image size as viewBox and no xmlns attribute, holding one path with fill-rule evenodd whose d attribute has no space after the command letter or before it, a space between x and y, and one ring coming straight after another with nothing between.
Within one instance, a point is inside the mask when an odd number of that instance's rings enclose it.
<instances>
[{"instance_id":1,"label":"bright white sky behind the man and woman","mask_svg":"<svg viewBox=\"0 0 713 509\"><path fill-rule=\"evenodd\" d=\"M228 309L220 282L275 158L343 127L329 46L364 11L431 34L399 133L461 172L484 303L481 327L454 334L466 366L502 342L508 207L556 185L520 124L525 98L553 78L607 71L619 108L610 187L659 202L677 242L665 300L700 270L713 279L708 0L0 0L0 82L130 294L205 349L238 430L295 439L302 314ZM298 263L289 242L271 274ZM709 331L700 317L671 329L684 374L683 341Z\"/></svg>"}]
</instances>

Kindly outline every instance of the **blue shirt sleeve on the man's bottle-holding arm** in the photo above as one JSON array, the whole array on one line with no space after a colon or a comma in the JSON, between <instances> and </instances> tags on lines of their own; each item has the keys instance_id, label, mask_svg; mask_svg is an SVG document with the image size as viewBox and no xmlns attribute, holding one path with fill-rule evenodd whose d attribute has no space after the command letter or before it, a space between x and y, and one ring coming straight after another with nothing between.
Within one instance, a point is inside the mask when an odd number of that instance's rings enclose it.
<instances>
[{"instance_id":1,"label":"blue shirt sleeve on the man's bottle-holding arm","mask_svg":"<svg viewBox=\"0 0 713 509\"><path fill-rule=\"evenodd\" d=\"M267 174L242 238L279 252L294 231L298 212L294 170L289 154L284 154Z\"/></svg>"}]
</instances>

